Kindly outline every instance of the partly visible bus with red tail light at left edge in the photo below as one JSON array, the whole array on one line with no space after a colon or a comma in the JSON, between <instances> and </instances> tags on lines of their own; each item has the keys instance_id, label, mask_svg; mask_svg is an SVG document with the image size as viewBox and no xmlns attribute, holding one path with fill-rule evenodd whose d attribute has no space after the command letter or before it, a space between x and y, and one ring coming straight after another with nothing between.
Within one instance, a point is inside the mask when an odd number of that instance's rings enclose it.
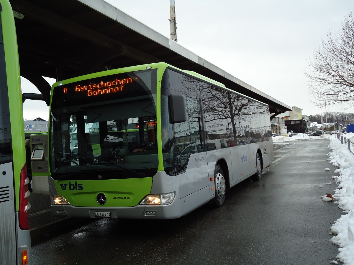
<instances>
[{"instance_id":1,"label":"partly visible bus with red tail light at left edge","mask_svg":"<svg viewBox=\"0 0 354 265\"><path fill-rule=\"evenodd\" d=\"M0 264L31 264L22 95L13 12L0 0Z\"/></svg>"}]
</instances>

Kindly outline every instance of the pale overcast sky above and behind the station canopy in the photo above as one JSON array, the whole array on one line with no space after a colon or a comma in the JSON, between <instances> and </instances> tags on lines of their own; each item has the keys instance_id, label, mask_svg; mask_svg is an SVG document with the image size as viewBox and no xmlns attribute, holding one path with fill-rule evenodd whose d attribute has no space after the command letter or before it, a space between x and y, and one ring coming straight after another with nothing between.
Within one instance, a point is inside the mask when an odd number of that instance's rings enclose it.
<instances>
[{"instance_id":1,"label":"pale overcast sky above and behind the station canopy","mask_svg":"<svg viewBox=\"0 0 354 265\"><path fill-rule=\"evenodd\" d=\"M169 0L105 1L170 37ZM321 39L329 30L339 31L351 2L175 0L177 43L276 100L302 108L302 114L320 114L310 102L304 72ZM28 92L30 86L22 87ZM327 106L327 111L354 109ZM24 105L25 119L41 116L36 113Z\"/></svg>"}]
</instances>

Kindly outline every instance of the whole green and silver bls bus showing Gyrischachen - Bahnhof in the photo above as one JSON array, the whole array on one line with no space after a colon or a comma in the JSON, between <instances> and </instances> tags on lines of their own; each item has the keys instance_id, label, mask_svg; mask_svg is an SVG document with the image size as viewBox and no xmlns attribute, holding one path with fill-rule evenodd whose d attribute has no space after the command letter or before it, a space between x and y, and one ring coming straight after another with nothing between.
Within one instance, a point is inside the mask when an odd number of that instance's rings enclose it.
<instances>
[{"instance_id":1,"label":"whole green and silver bls bus showing Gyrischachen - Bahnhof","mask_svg":"<svg viewBox=\"0 0 354 265\"><path fill-rule=\"evenodd\" d=\"M55 216L179 218L207 202L222 206L228 189L260 179L273 161L266 104L166 63L57 82L51 97ZM78 160L70 156L73 123ZM94 159L87 127L99 134Z\"/></svg>"}]
</instances>

